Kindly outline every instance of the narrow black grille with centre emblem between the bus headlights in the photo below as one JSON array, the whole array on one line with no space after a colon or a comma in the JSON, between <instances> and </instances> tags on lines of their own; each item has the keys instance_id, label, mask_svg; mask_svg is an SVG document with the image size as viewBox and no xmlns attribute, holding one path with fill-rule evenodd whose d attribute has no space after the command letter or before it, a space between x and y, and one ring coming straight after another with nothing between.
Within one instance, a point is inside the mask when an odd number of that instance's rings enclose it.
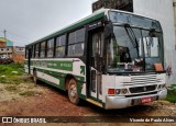
<instances>
[{"instance_id":1,"label":"narrow black grille with centre emblem between the bus headlights","mask_svg":"<svg viewBox=\"0 0 176 126\"><path fill-rule=\"evenodd\" d=\"M146 92L146 91L154 91L156 89L155 85L146 85L146 87L135 87L135 88L130 88L131 93L141 93L141 92Z\"/></svg>"}]
</instances>

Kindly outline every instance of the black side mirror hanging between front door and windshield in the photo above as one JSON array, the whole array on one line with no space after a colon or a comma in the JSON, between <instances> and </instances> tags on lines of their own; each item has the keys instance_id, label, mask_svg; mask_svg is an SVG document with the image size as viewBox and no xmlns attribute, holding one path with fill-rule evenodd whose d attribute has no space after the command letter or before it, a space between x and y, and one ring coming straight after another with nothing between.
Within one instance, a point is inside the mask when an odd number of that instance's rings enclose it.
<instances>
[{"instance_id":1,"label":"black side mirror hanging between front door and windshield","mask_svg":"<svg viewBox=\"0 0 176 126\"><path fill-rule=\"evenodd\" d=\"M108 23L105 27L105 38L110 38L113 36L113 25Z\"/></svg>"}]
</instances>

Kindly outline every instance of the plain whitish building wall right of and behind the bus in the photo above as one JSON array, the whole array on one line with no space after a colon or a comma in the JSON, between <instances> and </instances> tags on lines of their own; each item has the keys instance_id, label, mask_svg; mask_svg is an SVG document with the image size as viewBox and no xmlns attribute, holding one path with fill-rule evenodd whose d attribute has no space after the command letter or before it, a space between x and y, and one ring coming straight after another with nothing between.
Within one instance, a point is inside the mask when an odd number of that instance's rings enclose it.
<instances>
[{"instance_id":1,"label":"plain whitish building wall right of and behind the bus","mask_svg":"<svg viewBox=\"0 0 176 126\"><path fill-rule=\"evenodd\" d=\"M164 32L165 68L172 68L172 75L167 76L167 83L176 83L176 36L173 0L133 0L133 11L161 22Z\"/></svg>"}]
</instances>

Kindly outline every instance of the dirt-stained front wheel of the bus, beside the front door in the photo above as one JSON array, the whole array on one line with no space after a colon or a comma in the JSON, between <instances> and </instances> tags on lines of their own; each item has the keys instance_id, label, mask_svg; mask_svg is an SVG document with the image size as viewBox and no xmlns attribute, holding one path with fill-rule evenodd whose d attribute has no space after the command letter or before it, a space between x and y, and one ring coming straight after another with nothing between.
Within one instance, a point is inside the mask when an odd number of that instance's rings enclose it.
<instances>
[{"instance_id":1,"label":"dirt-stained front wheel of the bus, beside the front door","mask_svg":"<svg viewBox=\"0 0 176 126\"><path fill-rule=\"evenodd\" d=\"M75 79L70 79L68 82L68 98L73 104L76 104L76 105L79 104L80 99L78 95L77 82Z\"/></svg>"}]
</instances>

